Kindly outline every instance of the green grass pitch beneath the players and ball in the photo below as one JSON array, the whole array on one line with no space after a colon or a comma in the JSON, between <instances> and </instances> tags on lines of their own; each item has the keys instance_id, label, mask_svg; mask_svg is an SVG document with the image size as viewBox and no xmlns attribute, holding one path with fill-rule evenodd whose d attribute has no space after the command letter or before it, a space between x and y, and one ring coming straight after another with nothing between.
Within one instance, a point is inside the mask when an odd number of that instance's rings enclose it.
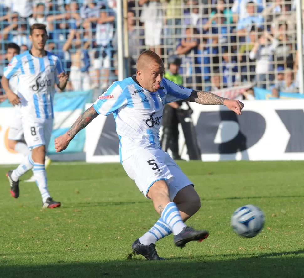
<instances>
[{"instance_id":1,"label":"green grass pitch beneath the players and ball","mask_svg":"<svg viewBox=\"0 0 304 278\"><path fill-rule=\"evenodd\" d=\"M188 222L210 231L184 249L172 235L157 243L166 261L127 260L133 241L158 219L119 164L51 165L59 209L42 209L34 183L13 199L0 168L0 277L303 277L304 162L180 162L202 208ZM29 177L30 173L24 178ZM263 209L252 239L230 227L233 211Z\"/></svg>"}]
</instances>

